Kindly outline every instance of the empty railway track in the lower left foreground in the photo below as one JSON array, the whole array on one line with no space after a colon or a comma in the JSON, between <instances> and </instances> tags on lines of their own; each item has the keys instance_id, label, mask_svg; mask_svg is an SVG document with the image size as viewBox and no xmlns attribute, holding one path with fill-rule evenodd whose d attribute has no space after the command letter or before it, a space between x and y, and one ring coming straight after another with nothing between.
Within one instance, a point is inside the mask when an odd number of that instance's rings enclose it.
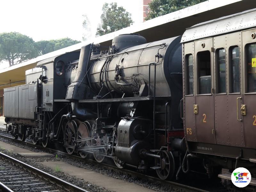
<instances>
[{"instance_id":1,"label":"empty railway track in the lower left foreground","mask_svg":"<svg viewBox=\"0 0 256 192\"><path fill-rule=\"evenodd\" d=\"M0 189L7 192L89 192L1 152Z\"/></svg>"}]
</instances>

